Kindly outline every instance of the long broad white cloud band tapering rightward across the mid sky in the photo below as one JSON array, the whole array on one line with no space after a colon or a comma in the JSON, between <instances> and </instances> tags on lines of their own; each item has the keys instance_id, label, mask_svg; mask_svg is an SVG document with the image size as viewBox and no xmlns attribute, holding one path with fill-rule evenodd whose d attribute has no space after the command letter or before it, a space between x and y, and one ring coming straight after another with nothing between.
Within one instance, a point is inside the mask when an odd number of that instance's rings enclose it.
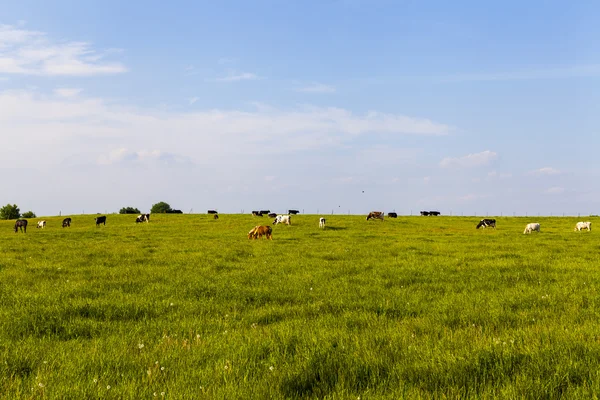
<instances>
[{"instance_id":1,"label":"long broad white cloud band tapering rightward across the mid sky","mask_svg":"<svg viewBox=\"0 0 600 400\"><path fill-rule=\"evenodd\" d=\"M371 133L435 136L450 129L427 119L355 114L334 107L181 112L36 91L0 91L0 126L12 132L10 143L0 147L0 167L20 162L15 154L24 147L32 153L37 149L40 163L60 163L86 152L96 152L94 159L104 154L102 162L112 163L142 157L137 150L109 154L139 149L141 143L161 154L180 154L201 163L244 165L260 160L257 155L338 149Z\"/></svg>"}]
</instances>

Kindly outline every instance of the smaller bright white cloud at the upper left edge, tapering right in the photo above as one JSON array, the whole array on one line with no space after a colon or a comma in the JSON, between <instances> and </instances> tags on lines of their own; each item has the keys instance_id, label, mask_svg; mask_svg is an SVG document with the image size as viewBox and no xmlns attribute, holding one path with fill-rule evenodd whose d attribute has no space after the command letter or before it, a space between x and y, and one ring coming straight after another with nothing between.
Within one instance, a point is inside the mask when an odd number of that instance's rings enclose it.
<instances>
[{"instance_id":1,"label":"smaller bright white cloud at the upper left edge, tapering right","mask_svg":"<svg viewBox=\"0 0 600 400\"><path fill-rule=\"evenodd\" d=\"M0 73L90 76L126 72L104 58L116 49L94 50L89 43L51 40L46 33L0 25Z\"/></svg>"}]
</instances>

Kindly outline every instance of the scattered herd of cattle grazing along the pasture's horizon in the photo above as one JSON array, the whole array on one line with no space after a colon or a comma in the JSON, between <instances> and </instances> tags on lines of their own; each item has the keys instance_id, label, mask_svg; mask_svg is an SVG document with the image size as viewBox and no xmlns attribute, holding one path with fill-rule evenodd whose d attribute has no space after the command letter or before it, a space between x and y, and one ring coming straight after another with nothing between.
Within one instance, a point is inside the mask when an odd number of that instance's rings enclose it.
<instances>
[{"instance_id":1,"label":"scattered herd of cattle grazing along the pasture's horizon","mask_svg":"<svg viewBox=\"0 0 600 400\"><path fill-rule=\"evenodd\" d=\"M298 213L299 213L298 210L288 210L288 215L277 215L276 213L272 213L270 210L252 211L252 215L255 217L262 217L263 215L267 215L269 218L275 218L273 220L273 225L277 225L277 224L291 225L292 224L292 215L296 215ZM216 210L208 210L208 214L214 215L214 219L219 218L219 214ZM421 215L438 216L438 215L440 215L440 212L439 211L421 211ZM384 216L385 216L385 213L382 211L371 211L367 215L367 221L369 221L371 219L373 219L373 220L378 219L380 221L383 221ZM396 214L395 212L390 212L390 213L388 213L388 217L397 218L398 214ZM105 215L96 217L96 218L94 218L94 220L96 221L97 227L100 224L106 226L106 216ZM150 214L138 215L135 219L135 222L136 223L150 222ZM323 217L319 218L319 228L324 229L325 222L326 222L325 218L323 218ZM67 217L67 218L63 219L62 227L68 228L70 226L71 226L71 218ZM45 220L38 221L36 228L43 229L45 227L46 227ZM496 220L492 219L492 218L484 218L481 221L479 221L479 223L477 224L477 226L475 228L476 229L496 228ZM21 230L21 232L27 233L27 220L26 219L18 219L15 222L15 233L19 232L19 229ZM592 223L590 221L585 221L585 222L578 222L577 224L575 224L575 231L580 232L582 230L587 230L588 232L590 232L592 230ZM533 223L529 223L525 226L525 230L523 231L524 234L532 233L532 232L540 232L540 224L539 223L533 222ZM271 239L271 240L273 239L273 230L270 226L257 225L254 228L252 228L250 230L250 232L248 232L248 239L258 239L263 236L267 239Z\"/></svg>"}]
</instances>

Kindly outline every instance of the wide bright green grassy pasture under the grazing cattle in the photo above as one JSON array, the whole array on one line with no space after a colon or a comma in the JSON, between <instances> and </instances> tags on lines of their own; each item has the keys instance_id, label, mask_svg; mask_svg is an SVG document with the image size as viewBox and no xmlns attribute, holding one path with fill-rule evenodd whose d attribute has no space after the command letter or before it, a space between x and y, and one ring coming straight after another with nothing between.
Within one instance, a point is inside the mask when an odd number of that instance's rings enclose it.
<instances>
[{"instance_id":1,"label":"wide bright green grassy pasture under the grazing cattle","mask_svg":"<svg viewBox=\"0 0 600 400\"><path fill-rule=\"evenodd\" d=\"M0 398L598 397L596 219L318 217L0 221Z\"/></svg>"}]
</instances>

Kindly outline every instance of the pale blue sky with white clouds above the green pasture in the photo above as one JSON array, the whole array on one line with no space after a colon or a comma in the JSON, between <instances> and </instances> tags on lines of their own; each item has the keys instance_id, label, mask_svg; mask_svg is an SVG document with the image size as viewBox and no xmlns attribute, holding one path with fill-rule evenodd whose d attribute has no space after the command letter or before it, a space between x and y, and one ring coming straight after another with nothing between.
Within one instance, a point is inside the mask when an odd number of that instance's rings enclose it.
<instances>
[{"instance_id":1,"label":"pale blue sky with white clouds above the green pasture","mask_svg":"<svg viewBox=\"0 0 600 400\"><path fill-rule=\"evenodd\" d=\"M594 2L5 3L0 203L598 213Z\"/></svg>"}]
</instances>

